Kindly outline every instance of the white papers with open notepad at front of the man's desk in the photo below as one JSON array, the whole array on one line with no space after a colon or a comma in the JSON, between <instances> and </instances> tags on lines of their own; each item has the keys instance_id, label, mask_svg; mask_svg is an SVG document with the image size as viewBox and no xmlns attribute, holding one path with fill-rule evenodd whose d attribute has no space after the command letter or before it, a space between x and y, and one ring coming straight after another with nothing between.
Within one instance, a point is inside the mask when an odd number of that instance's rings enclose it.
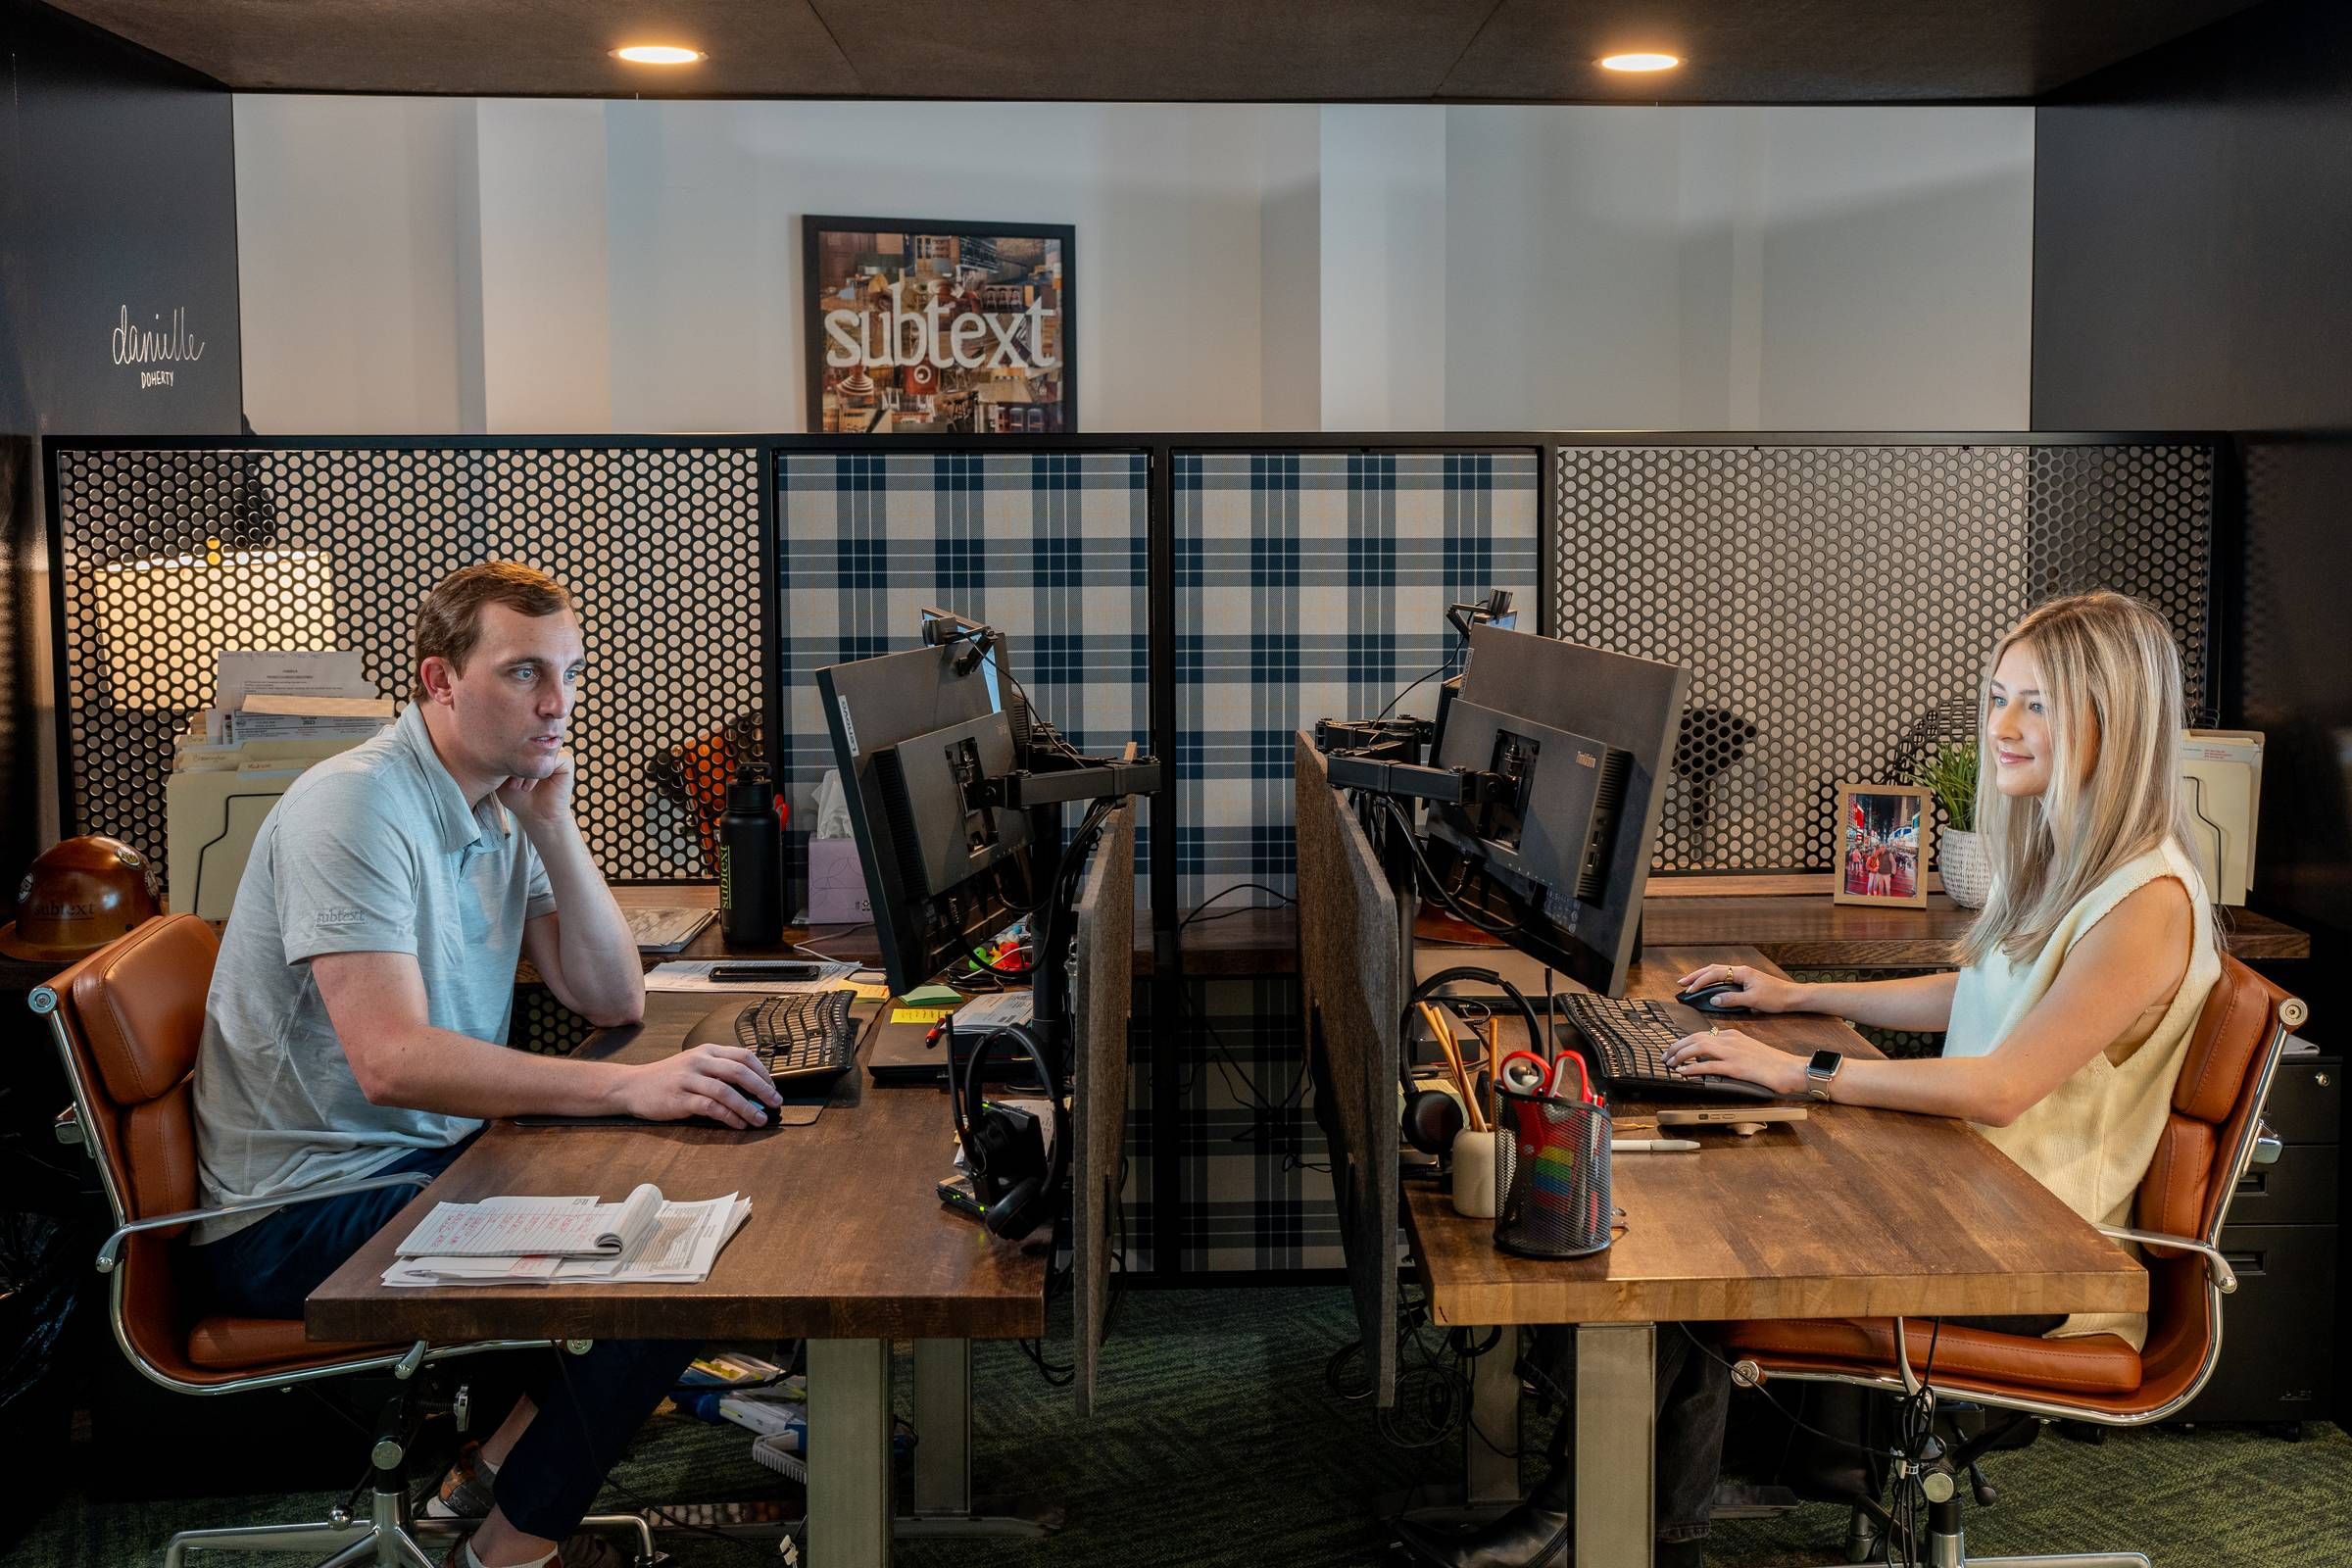
<instances>
[{"instance_id":1,"label":"white papers with open notepad at front of the man's desk","mask_svg":"<svg viewBox=\"0 0 2352 1568\"><path fill-rule=\"evenodd\" d=\"M388 1286L694 1284L750 1218L729 1192L673 1204L640 1182L621 1204L593 1197L437 1204L395 1246Z\"/></svg>"}]
</instances>

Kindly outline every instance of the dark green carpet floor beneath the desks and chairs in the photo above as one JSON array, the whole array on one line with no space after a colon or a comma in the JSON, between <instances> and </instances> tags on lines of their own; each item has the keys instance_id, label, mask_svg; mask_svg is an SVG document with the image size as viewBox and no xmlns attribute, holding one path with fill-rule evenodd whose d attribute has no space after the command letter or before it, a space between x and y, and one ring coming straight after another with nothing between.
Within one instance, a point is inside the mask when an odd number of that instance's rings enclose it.
<instances>
[{"instance_id":1,"label":"dark green carpet floor beneath the desks and chairs","mask_svg":"<svg viewBox=\"0 0 2352 1568\"><path fill-rule=\"evenodd\" d=\"M1350 1338L1348 1298L1338 1288L1136 1291L1105 1349L1101 1415L1084 1425L1070 1413L1070 1394L1049 1389L1011 1345L981 1345L976 1483L1049 1493L1068 1512L1068 1526L1044 1542L906 1542L896 1561L915 1568L1388 1561L1378 1502L1416 1483L1458 1479L1461 1446L1397 1448L1367 1403L1334 1396L1324 1363ZM2027 1450L1992 1455L1987 1472L2004 1497L1994 1509L1969 1512L1969 1544L1987 1554L2133 1547L2161 1568L2352 1566L2352 1439L2331 1425L2305 1432L2298 1443L2232 1427L2161 1429L2110 1434L2100 1446L2044 1434ZM1536 1434L1529 1439L1534 1448ZM353 1443L355 1465L362 1446ZM616 1481L656 1497L783 1495L750 1462L748 1446L736 1427L661 1415ZM85 1474L80 1460L68 1476ZM310 1519L327 1502L325 1493L92 1502L68 1481L7 1559L12 1568L155 1563L176 1528ZM609 1490L604 1507L626 1509L628 1500ZM1830 1507L1719 1523L1708 1561L1830 1563L1842 1530L1844 1512ZM666 1533L663 1547L680 1568L779 1561L774 1547L680 1533ZM228 1568L285 1559L195 1561Z\"/></svg>"}]
</instances>

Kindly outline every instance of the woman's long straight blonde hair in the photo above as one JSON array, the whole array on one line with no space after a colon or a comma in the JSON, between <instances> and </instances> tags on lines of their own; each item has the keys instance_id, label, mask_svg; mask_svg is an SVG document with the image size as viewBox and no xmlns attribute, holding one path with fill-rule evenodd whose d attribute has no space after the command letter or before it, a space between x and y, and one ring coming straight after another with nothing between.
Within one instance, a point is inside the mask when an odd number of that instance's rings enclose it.
<instances>
[{"instance_id":1,"label":"woman's long straight blonde hair","mask_svg":"<svg viewBox=\"0 0 2352 1568\"><path fill-rule=\"evenodd\" d=\"M1962 938L1962 964L1994 950L2032 959L2117 865L2166 839L2192 842L2180 790L2180 649L2164 618L2119 592L2051 599L1985 661L1980 724L1992 717L1992 670L2018 644L2042 665L2051 783L2039 797L2002 795L1994 748L1978 745L1976 830L1992 860L1992 896Z\"/></svg>"}]
</instances>

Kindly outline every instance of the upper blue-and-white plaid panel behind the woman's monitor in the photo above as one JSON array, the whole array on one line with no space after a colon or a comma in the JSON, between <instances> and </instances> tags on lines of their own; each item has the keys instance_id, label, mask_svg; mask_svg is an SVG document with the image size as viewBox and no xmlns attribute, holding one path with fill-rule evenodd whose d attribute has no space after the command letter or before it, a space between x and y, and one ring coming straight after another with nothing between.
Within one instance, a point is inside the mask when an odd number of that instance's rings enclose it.
<instances>
[{"instance_id":1,"label":"upper blue-and-white plaid panel behind the woman's monitor","mask_svg":"<svg viewBox=\"0 0 2352 1568\"><path fill-rule=\"evenodd\" d=\"M1178 903L1291 886L1291 731L1371 717L1454 649L1446 604L1536 614L1534 451L1178 451ZM1437 710L1437 682L1397 712Z\"/></svg>"}]
</instances>

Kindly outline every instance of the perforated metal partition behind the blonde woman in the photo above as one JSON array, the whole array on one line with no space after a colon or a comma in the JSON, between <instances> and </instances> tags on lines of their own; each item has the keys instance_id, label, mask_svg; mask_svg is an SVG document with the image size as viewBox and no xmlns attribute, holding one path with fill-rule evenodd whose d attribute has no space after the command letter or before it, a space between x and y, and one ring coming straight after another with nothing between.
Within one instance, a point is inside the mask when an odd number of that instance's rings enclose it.
<instances>
[{"instance_id":1,"label":"perforated metal partition behind the blonde woman","mask_svg":"<svg viewBox=\"0 0 2352 1568\"><path fill-rule=\"evenodd\" d=\"M1592 437L1559 444L1550 625L1691 668L1658 870L1823 870L1839 783L1969 736L2032 604L2114 588L2211 708L2216 444Z\"/></svg>"}]
</instances>

